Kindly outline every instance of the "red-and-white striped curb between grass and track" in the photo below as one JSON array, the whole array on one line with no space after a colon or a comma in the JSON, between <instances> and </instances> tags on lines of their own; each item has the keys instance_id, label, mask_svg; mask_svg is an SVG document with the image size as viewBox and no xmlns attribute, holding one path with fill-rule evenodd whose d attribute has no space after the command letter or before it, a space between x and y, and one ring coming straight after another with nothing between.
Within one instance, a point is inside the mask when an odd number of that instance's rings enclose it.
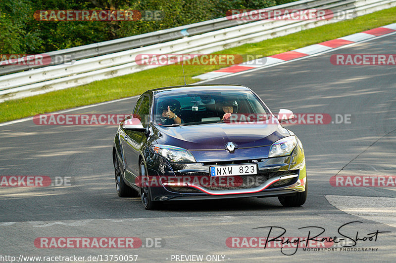
<instances>
[{"instance_id":1,"label":"red-and-white striped curb between grass and track","mask_svg":"<svg viewBox=\"0 0 396 263\"><path fill-rule=\"evenodd\" d=\"M194 76L193 78L199 79L212 79L224 75L230 75L238 72L243 72L251 69L257 69L261 67L267 67L268 65L274 65L285 61L290 61L324 51L328 51L334 48L338 48L347 44L356 43L367 40L369 38L375 38L390 33L396 32L396 23L387 26L367 30L361 33L352 34L346 37L337 38L329 41L325 41L319 44L309 45L306 47L298 48L292 51L272 55L269 57L263 57L247 61L238 65L234 65L228 68L212 71L202 75Z\"/></svg>"}]
</instances>

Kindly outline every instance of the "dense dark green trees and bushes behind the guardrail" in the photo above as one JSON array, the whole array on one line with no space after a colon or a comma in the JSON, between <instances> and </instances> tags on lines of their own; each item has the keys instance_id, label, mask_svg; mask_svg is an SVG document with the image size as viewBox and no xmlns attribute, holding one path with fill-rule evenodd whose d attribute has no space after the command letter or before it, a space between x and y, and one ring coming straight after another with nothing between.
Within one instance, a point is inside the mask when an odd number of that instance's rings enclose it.
<instances>
[{"instance_id":1,"label":"dense dark green trees and bushes behind the guardrail","mask_svg":"<svg viewBox=\"0 0 396 263\"><path fill-rule=\"evenodd\" d=\"M0 0L0 54L43 53L124 38L293 0ZM36 10L160 10L161 20L36 21Z\"/></svg>"}]
</instances>

